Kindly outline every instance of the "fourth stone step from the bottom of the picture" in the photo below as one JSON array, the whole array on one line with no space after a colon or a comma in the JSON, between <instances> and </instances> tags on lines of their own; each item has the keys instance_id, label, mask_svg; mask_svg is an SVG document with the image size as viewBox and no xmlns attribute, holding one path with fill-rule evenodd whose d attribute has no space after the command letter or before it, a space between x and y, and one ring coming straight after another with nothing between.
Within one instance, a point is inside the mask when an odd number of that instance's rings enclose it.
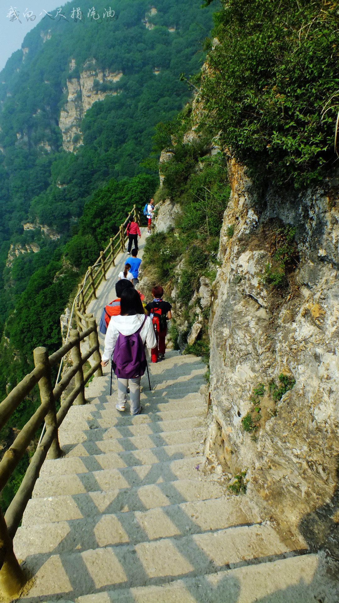
<instances>
[{"instance_id":1,"label":"fourth stone step from the bottom of the picture","mask_svg":"<svg viewBox=\"0 0 339 603\"><path fill-rule=\"evenodd\" d=\"M98 516L101 513L145 511L182 502L215 499L224 496L225 490L224 485L204 479L177 479L173 482L159 482L121 490L115 487L104 492L63 494L44 498L33 496L28 500L22 525L68 521Z\"/></svg>"}]
</instances>

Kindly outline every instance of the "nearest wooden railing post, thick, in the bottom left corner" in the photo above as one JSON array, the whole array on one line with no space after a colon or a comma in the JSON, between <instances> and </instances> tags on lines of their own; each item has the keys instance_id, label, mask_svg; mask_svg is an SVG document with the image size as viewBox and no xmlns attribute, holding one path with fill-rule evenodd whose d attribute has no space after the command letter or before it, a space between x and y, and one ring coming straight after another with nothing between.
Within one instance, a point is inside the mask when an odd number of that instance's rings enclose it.
<instances>
[{"instance_id":1,"label":"nearest wooden railing post, thick, in the bottom left corner","mask_svg":"<svg viewBox=\"0 0 339 603\"><path fill-rule=\"evenodd\" d=\"M0 591L7 598L17 595L26 582L13 551L13 540L8 534L7 525L0 509Z\"/></svg>"}]
</instances>

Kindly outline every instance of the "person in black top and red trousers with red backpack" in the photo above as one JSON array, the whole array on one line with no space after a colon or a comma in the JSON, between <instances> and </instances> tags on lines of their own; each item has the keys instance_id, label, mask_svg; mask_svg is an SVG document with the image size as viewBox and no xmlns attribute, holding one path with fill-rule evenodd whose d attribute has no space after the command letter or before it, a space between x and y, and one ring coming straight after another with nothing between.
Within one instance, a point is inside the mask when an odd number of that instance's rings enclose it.
<instances>
[{"instance_id":1,"label":"person in black top and red trousers with red backpack","mask_svg":"<svg viewBox=\"0 0 339 603\"><path fill-rule=\"evenodd\" d=\"M160 286L152 289L153 301L147 304L146 314L151 316L154 332L156 333L157 346L151 350L151 361L157 362L165 358L167 334L167 321L172 318L172 306L168 301L163 301L163 288Z\"/></svg>"}]
</instances>

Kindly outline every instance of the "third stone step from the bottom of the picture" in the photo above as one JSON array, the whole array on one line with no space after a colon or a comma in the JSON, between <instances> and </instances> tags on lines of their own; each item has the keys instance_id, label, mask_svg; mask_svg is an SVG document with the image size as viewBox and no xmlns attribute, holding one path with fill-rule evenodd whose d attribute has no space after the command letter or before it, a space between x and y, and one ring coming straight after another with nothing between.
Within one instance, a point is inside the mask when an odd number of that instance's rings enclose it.
<instances>
[{"instance_id":1,"label":"third stone step from the bottom of the picture","mask_svg":"<svg viewBox=\"0 0 339 603\"><path fill-rule=\"evenodd\" d=\"M249 517L250 515L250 517ZM256 517L258 522L259 518ZM17 557L58 551L87 551L121 544L137 545L144 541L159 540L218 531L238 525L253 523L253 514L246 514L235 498L225 497L181 505L155 508L58 523L27 525L19 528L14 539Z\"/></svg>"}]
</instances>

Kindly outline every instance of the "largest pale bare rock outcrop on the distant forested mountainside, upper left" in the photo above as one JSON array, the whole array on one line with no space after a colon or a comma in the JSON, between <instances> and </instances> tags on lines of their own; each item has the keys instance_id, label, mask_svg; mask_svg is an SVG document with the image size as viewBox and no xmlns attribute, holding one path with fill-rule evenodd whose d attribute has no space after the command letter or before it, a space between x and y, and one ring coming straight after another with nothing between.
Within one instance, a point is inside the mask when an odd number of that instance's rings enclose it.
<instances>
[{"instance_id":1,"label":"largest pale bare rock outcrop on the distant forested mountainside, upper left","mask_svg":"<svg viewBox=\"0 0 339 603\"><path fill-rule=\"evenodd\" d=\"M74 59L69 63L70 72L75 68ZM98 86L106 83L116 83L122 77L122 71L105 71L95 66L95 60L87 61L80 74L80 79L67 80L68 99L65 109L60 112L59 127L62 131L63 148L73 152L83 144L81 134L81 119L92 107L93 103L102 101L107 95L115 96L116 90L100 90ZM66 92L67 92L66 90Z\"/></svg>"}]
</instances>

